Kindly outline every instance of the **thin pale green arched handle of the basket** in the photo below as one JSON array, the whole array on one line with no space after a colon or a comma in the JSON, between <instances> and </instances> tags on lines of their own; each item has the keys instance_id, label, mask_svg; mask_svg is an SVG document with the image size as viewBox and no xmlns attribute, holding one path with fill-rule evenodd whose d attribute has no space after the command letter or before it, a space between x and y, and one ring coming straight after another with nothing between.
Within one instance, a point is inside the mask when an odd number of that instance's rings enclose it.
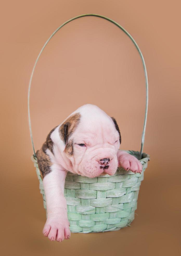
<instances>
[{"instance_id":1,"label":"thin pale green arched handle of the basket","mask_svg":"<svg viewBox=\"0 0 181 256\"><path fill-rule=\"evenodd\" d=\"M147 120L147 112L148 112L148 77L147 77L147 71L146 71L146 65L145 65L145 60L143 57L143 54L141 53L141 50L139 49L137 43L135 42L135 40L133 39L133 37L122 27L120 26L117 22L115 22L114 20L111 20L105 16L99 15L99 14L81 14L78 16L75 16L74 18L71 18L69 20L67 20L66 22L64 22L60 27L58 27L53 34L51 34L51 36L48 38L47 42L43 45L43 48L41 49L40 53L38 54L38 57L35 61L34 67L33 67L33 71L31 73L31 77L30 77L30 81L29 81L29 88L28 88L28 120L29 120L29 129L30 129L30 137L31 137L31 144L33 147L33 152L34 152L34 156L36 157L36 153L35 153L35 148L34 148L34 143L33 143L33 135L32 135L32 130L31 130L31 120L30 120L30 106L29 106L29 101L30 101L30 88L31 88L31 81L33 78L33 74L35 71L35 67L37 64L38 59L40 58L40 55L42 54L42 51L44 50L45 46L48 44L48 42L50 41L50 39L54 36L54 34L59 31L60 28L62 28L64 25L66 25L68 22L75 20L77 18L81 18L84 16L96 16L96 17L100 17L103 19L106 19L110 22L112 22L113 24L115 24L116 26L118 26L134 43L134 45L136 46L139 55L141 57L142 63L143 63L143 68L144 68L144 74L145 74L145 81L146 81L146 107L145 107L145 119L144 119L144 125L143 125L143 132L142 132L142 136L141 136L141 149L140 149L140 159L142 157L142 153L143 153L143 146L144 146L144 139L145 139L145 129L146 129L146 120Z\"/></svg>"}]
</instances>

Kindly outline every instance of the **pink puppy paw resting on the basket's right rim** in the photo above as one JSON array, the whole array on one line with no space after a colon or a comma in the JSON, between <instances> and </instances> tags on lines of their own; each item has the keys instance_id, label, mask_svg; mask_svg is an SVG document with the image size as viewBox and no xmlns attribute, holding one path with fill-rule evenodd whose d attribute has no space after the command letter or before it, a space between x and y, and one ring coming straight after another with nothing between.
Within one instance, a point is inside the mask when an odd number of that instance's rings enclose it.
<instances>
[{"instance_id":1,"label":"pink puppy paw resting on the basket's right rim","mask_svg":"<svg viewBox=\"0 0 181 256\"><path fill-rule=\"evenodd\" d=\"M124 168L126 171L130 170L134 173L141 173L143 166L141 162L134 156L128 154L127 152L118 152L118 166Z\"/></svg>"}]
</instances>

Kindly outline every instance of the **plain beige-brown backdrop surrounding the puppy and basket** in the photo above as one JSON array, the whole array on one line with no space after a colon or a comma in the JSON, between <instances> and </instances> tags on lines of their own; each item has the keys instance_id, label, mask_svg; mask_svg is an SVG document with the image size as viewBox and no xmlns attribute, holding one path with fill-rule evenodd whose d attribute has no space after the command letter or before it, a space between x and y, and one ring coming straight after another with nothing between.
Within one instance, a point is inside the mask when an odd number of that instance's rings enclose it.
<instances>
[{"instance_id":1,"label":"plain beige-brown backdrop surrounding the puppy and basket","mask_svg":"<svg viewBox=\"0 0 181 256\"><path fill-rule=\"evenodd\" d=\"M7 1L1 8L2 255L180 255L180 1ZM46 220L30 143L27 93L43 44L84 13L117 21L140 46L149 79L144 152L151 160L131 228L43 237ZM31 91L35 149L79 106L115 117L121 149L140 149L145 107L141 59L131 40L104 19L64 26L37 65Z\"/></svg>"}]
</instances>

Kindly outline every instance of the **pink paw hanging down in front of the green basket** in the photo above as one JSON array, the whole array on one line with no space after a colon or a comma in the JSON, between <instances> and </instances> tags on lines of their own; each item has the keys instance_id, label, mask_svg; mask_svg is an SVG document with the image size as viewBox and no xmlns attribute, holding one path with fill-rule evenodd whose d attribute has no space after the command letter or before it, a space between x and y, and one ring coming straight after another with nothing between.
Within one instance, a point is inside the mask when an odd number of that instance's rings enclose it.
<instances>
[{"instance_id":1,"label":"pink paw hanging down in front of the green basket","mask_svg":"<svg viewBox=\"0 0 181 256\"><path fill-rule=\"evenodd\" d=\"M50 241L61 242L70 238L69 221L67 217L48 217L43 228L44 236Z\"/></svg>"}]
</instances>

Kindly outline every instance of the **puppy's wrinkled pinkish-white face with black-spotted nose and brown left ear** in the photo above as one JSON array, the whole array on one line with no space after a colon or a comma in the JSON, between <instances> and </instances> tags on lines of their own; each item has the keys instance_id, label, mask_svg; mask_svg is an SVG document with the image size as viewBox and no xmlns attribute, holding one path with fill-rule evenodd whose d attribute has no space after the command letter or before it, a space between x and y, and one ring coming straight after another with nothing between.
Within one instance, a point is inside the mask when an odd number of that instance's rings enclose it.
<instances>
[{"instance_id":1,"label":"puppy's wrinkled pinkish-white face with black-spotted nose and brown left ear","mask_svg":"<svg viewBox=\"0 0 181 256\"><path fill-rule=\"evenodd\" d=\"M113 117L75 113L60 126L60 135L74 173L93 178L116 172L121 135Z\"/></svg>"}]
</instances>

